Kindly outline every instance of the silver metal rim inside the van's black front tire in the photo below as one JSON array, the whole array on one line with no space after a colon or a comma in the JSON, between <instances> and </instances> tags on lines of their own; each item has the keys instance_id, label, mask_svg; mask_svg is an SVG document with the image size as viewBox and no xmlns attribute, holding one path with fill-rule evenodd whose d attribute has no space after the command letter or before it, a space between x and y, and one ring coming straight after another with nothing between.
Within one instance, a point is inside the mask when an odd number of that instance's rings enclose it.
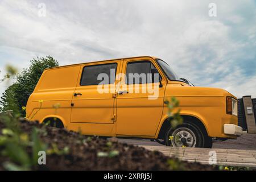
<instances>
[{"instance_id":1,"label":"silver metal rim inside the van's black front tire","mask_svg":"<svg viewBox=\"0 0 256 182\"><path fill-rule=\"evenodd\" d=\"M173 147L195 147L196 146L196 135L192 130L185 127L180 127L172 133L174 137L171 140Z\"/></svg>"}]
</instances>

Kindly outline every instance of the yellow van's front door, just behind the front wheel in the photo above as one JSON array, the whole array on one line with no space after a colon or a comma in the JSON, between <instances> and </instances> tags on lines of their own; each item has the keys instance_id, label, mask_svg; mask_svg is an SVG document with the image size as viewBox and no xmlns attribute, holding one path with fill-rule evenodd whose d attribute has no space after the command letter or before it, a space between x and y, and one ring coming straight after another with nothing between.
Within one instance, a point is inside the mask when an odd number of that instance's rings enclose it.
<instances>
[{"instance_id":1,"label":"yellow van's front door, just behind the front wheel","mask_svg":"<svg viewBox=\"0 0 256 182\"><path fill-rule=\"evenodd\" d=\"M163 87L157 88L154 93L149 92L148 84L151 80L142 77L150 73L151 68L157 68L159 71L158 65L153 60L143 58L123 60L122 72L126 75L126 79L119 88L117 96L117 135L119 136L155 136L156 134L163 111L166 80L160 75ZM130 78L129 74L138 74L139 79ZM159 82L157 84L159 85Z\"/></svg>"}]
</instances>

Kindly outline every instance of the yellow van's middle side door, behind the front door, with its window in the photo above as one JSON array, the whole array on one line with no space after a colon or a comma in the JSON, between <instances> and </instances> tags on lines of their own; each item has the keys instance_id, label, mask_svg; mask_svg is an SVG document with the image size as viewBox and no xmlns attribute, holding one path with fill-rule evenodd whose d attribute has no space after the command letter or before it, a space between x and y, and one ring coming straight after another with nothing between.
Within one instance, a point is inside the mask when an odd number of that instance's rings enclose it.
<instances>
[{"instance_id":1,"label":"yellow van's middle side door, behind the front door, with its window","mask_svg":"<svg viewBox=\"0 0 256 182\"><path fill-rule=\"evenodd\" d=\"M115 60L82 65L72 100L71 123L114 123L115 75L119 72L120 64L121 60ZM98 134L94 131L101 127L87 126L86 130L89 131L84 134Z\"/></svg>"}]
</instances>

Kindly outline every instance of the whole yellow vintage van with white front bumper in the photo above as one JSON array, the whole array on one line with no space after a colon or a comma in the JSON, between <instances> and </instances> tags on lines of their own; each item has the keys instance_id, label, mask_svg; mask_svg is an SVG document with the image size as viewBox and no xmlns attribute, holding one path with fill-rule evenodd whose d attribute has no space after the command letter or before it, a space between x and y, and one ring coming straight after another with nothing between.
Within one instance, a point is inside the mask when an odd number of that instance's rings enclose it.
<instances>
[{"instance_id":1,"label":"whole yellow vintage van with white front bumper","mask_svg":"<svg viewBox=\"0 0 256 182\"><path fill-rule=\"evenodd\" d=\"M165 103L171 97L179 100L184 120L175 128ZM26 117L84 135L148 138L175 147L212 147L212 138L242 135L235 96L191 86L151 56L46 69L27 102Z\"/></svg>"}]
</instances>

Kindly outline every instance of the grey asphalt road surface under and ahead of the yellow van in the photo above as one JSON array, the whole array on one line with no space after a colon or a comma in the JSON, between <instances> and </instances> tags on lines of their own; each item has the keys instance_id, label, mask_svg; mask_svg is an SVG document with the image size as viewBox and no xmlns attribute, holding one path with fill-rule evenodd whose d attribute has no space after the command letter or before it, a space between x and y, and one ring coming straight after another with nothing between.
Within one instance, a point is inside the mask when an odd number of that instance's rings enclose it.
<instances>
[{"instance_id":1,"label":"grey asphalt road surface under and ahead of the yellow van","mask_svg":"<svg viewBox=\"0 0 256 182\"><path fill-rule=\"evenodd\" d=\"M135 144L140 146L163 146L157 142L151 142L148 139L118 139L119 142ZM256 150L256 134L243 134L237 139L229 139L224 142L213 142L212 148L233 148L244 150Z\"/></svg>"}]
</instances>

